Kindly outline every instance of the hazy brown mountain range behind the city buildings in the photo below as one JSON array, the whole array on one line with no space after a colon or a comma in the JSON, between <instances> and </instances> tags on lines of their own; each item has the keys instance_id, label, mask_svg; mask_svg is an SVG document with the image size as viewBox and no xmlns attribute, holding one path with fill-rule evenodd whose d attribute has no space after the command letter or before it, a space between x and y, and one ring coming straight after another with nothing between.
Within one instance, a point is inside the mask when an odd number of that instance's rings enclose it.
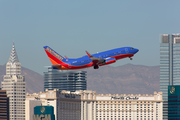
<instances>
[{"instance_id":1,"label":"hazy brown mountain range behind the city buildings","mask_svg":"<svg viewBox=\"0 0 180 120\"><path fill-rule=\"evenodd\" d=\"M0 82L5 75L5 65L0 65ZM159 92L159 66L143 66L126 64L112 67L102 66L97 70L87 71L87 88L97 94L153 94ZM43 76L22 67L27 92L43 91Z\"/></svg>"}]
</instances>

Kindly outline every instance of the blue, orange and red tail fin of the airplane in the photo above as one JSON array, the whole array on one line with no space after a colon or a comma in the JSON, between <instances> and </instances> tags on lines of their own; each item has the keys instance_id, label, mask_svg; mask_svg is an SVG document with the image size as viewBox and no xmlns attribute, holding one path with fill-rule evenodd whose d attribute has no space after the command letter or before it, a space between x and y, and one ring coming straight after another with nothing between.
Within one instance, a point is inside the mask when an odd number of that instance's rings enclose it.
<instances>
[{"instance_id":1,"label":"blue, orange and red tail fin of the airplane","mask_svg":"<svg viewBox=\"0 0 180 120\"><path fill-rule=\"evenodd\" d=\"M66 61L66 59L64 57L59 55L57 52L55 52L49 46L44 46L44 50L46 51L46 53L53 65L62 64L63 62Z\"/></svg>"}]
</instances>

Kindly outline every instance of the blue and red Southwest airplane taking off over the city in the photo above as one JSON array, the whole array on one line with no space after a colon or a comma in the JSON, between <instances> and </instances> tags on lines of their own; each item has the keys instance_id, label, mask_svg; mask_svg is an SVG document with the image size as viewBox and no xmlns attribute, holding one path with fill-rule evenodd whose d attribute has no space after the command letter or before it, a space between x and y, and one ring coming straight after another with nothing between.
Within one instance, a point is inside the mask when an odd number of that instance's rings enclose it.
<instances>
[{"instance_id":1,"label":"blue and red Southwest airplane taking off over the city","mask_svg":"<svg viewBox=\"0 0 180 120\"><path fill-rule=\"evenodd\" d=\"M60 70L76 70L88 67L98 69L99 66L115 63L119 59L130 58L132 60L134 54L139 51L133 47L116 48L92 55L86 51L87 55L72 59L61 56L49 46L44 46L44 50L52 63L52 68Z\"/></svg>"}]
</instances>

